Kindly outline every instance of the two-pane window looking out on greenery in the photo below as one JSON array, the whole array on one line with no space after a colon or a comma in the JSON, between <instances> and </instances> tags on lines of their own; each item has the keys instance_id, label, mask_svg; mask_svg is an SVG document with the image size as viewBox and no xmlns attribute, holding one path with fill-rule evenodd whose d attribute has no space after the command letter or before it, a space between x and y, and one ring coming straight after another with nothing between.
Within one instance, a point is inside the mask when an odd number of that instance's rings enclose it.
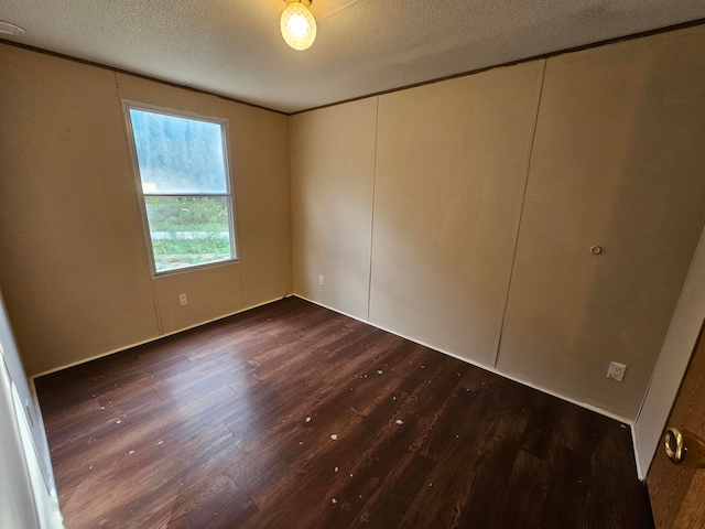
<instances>
[{"instance_id":1,"label":"two-pane window looking out on greenery","mask_svg":"<svg viewBox=\"0 0 705 529\"><path fill-rule=\"evenodd\" d=\"M154 272L235 260L227 122L127 109Z\"/></svg>"}]
</instances>

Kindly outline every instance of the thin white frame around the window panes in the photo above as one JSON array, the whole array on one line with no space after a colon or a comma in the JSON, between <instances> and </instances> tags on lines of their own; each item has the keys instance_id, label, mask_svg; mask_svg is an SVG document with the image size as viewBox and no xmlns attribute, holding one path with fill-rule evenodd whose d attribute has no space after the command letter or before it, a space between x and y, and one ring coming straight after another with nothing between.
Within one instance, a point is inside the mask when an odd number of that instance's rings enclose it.
<instances>
[{"instance_id":1,"label":"thin white frame around the window panes","mask_svg":"<svg viewBox=\"0 0 705 529\"><path fill-rule=\"evenodd\" d=\"M164 116L172 116L176 118L185 118L193 119L197 121L206 121L208 123L217 123L220 126L220 139L223 141L223 156L224 156L224 165L225 165L225 176L226 176L226 192L225 193L169 193L169 194L150 194L144 193L142 186L142 177L140 173L140 164L137 155L137 144L134 141L134 131L132 130L132 119L130 117L130 109L142 110L152 114L161 114ZM214 117L214 116L203 116L194 112L187 112L183 110L175 110L172 108L158 107L154 105L149 105L144 102L133 101L123 99L122 100L122 114L126 121L126 128L128 132L128 145L130 148L130 158L132 162L132 173L134 175L134 183L137 194L140 198L140 214L142 216L142 228L144 234L144 240L148 248L149 261L150 261L150 270L152 272L152 277L166 276L172 273L184 273L192 270L203 269L203 268L212 268L212 267L221 267L224 264L229 264L239 261L239 248L238 237L237 237L237 223L235 215L235 196L232 193L232 174L230 171L230 136L229 136L229 120L227 118ZM228 205L228 226L230 233L230 258L220 259L218 261L205 262L199 264L189 264L186 267L174 268L171 270L156 270L156 261L154 258L154 246L152 245L152 234L150 233L150 223L147 214L147 201L145 197L150 196L160 196L160 197L192 197L192 196L225 196L227 198Z\"/></svg>"}]
</instances>

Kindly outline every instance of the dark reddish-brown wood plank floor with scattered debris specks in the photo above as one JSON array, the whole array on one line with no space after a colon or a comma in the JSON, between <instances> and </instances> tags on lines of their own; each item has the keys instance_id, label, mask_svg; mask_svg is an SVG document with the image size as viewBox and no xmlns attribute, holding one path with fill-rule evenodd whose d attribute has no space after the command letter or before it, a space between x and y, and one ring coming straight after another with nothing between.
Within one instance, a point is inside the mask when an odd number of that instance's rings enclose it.
<instances>
[{"instance_id":1,"label":"dark reddish-brown wood plank floor with scattered debris specks","mask_svg":"<svg viewBox=\"0 0 705 529\"><path fill-rule=\"evenodd\" d=\"M653 527L625 425L295 298L36 389L67 529Z\"/></svg>"}]
</instances>

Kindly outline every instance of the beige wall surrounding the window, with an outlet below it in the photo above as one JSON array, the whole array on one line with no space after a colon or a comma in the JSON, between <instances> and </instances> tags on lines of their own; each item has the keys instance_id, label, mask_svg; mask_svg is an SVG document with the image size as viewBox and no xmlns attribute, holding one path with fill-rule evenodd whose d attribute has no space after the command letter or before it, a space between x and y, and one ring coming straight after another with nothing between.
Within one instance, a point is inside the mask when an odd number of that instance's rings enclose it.
<instances>
[{"instance_id":1,"label":"beige wall surrounding the window, with an outlet below it","mask_svg":"<svg viewBox=\"0 0 705 529\"><path fill-rule=\"evenodd\" d=\"M28 373L291 292L286 116L8 45L0 72L0 285ZM229 119L240 262L151 277L122 97Z\"/></svg>"}]
</instances>

